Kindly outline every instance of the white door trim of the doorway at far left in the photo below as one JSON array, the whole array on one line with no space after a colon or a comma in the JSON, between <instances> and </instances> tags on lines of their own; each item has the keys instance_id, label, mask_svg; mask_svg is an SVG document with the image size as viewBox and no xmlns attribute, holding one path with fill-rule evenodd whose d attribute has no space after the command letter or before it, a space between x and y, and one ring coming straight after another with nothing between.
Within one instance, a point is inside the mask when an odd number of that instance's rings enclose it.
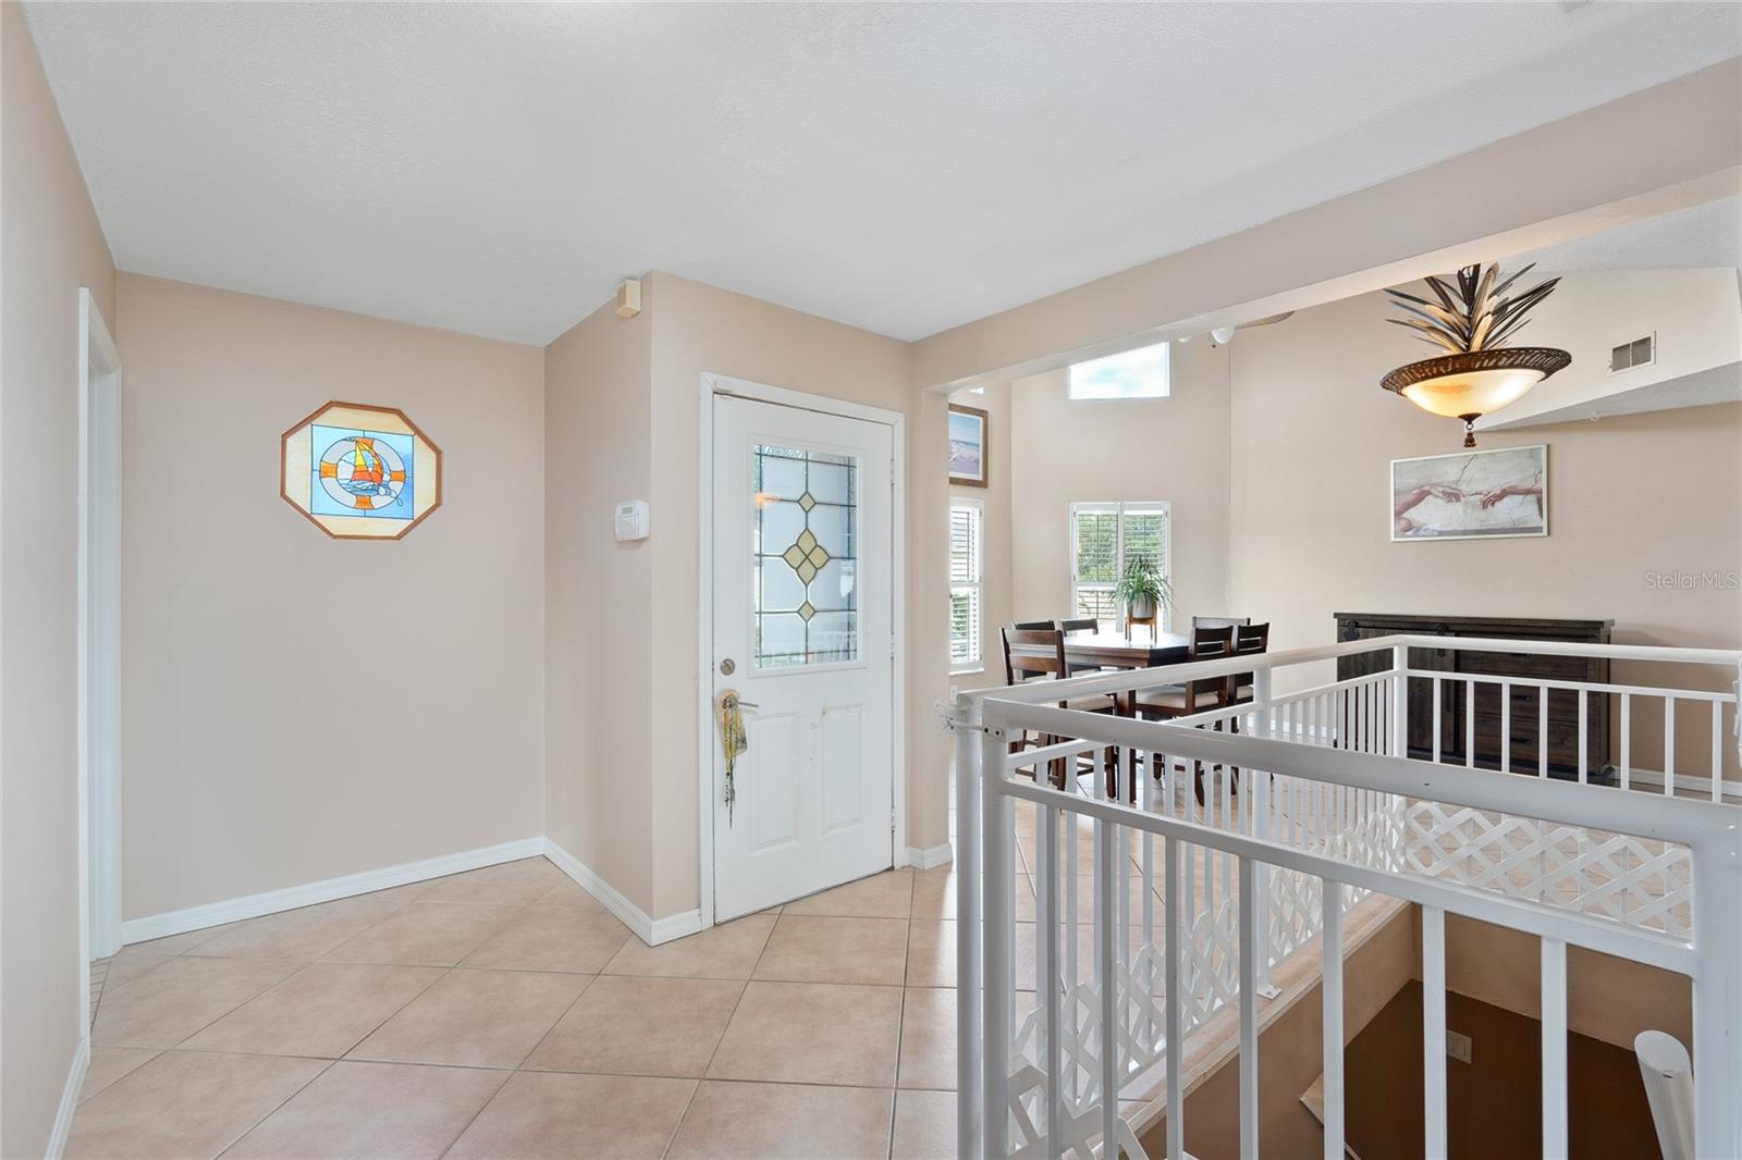
<instances>
[{"instance_id":1,"label":"white door trim of the doorway at far left","mask_svg":"<svg viewBox=\"0 0 1742 1160\"><path fill-rule=\"evenodd\" d=\"M105 495L92 491L98 482ZM96 523L98 512L106 519ZM106 604L94 615L96 601ZM120 354L78 289L78 1008L91 960L120 949Z\"/></svg>"}]
</instances>

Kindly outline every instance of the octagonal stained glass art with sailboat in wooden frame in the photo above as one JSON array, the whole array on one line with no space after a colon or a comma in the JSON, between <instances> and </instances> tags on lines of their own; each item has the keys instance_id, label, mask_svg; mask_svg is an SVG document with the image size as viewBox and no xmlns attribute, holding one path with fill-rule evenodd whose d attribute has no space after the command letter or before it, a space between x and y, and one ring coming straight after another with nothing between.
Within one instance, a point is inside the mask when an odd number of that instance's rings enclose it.
<instances>
[{"instance_id":1,"label":"octagonal stained glass art with sailboat in wooden frame","mask_svg":"<svg viewBox=\"0 0 1742 1160\"><path fill-rule=\"evenodd\" d=\"M441 449L395 408L329 402L282 446L284 500L336 540L397 540L441 507Z\"/></svg>"}]
</instances>

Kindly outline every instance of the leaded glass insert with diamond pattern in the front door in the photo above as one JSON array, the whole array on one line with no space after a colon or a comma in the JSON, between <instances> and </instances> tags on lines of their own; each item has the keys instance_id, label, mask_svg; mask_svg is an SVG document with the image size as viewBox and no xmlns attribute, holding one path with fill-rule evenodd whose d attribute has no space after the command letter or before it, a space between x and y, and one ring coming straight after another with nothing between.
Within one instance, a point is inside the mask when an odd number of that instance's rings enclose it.
<instances>
[{"instance_id":1,"label":"leaded glass insert with diamond pattern in the front door","mask_svg":"<svg viewBox=\"0 0 1742 1160\"><path fill-rule=\"evenodd\" d=\"M758 669L859 660L859 460L756 444Z\"/></svg>"}]
</instances>

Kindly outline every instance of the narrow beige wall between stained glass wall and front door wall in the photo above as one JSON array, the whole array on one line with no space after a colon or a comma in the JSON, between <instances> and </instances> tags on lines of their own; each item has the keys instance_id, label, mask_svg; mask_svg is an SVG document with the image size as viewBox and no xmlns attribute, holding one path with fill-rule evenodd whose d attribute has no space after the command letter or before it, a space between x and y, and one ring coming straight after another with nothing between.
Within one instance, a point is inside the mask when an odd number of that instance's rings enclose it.
<instances>
[{"instance_id":1,"label":"narrow beige wall between stained glass wall and front door wall","mask_svg":"<svg viewBox=\"0 0 1742 1160\"><path fill-rule=\"evenodd\" d=\"M613 507L652 489L648 395L657 289L545 348L545 834L636 906L653 904L653 545L618 542ZM692 758L693 763L693 758ZM693 780L692 780L693 798Z\"/></svg>"}]
</instances>

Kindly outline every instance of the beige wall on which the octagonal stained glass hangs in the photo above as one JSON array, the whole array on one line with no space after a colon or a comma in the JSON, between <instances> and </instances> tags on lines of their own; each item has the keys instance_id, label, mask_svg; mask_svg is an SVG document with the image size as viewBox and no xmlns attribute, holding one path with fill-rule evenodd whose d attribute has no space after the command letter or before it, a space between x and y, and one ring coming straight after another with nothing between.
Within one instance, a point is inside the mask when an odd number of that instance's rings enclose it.
<instances>
[{"instance_id":1,"label":"beige wall on which the octagonal stained glass hangs","mask_svg":"<svg viewBox=\"0 0 1742 1160\"><path fill-rule=\"evenodd\" d=\"M120 336L125 916L544 833L540 350L131 273ZM441 448L404 540L279 496L329 399Z\"/></svg>"}]
</instances>

